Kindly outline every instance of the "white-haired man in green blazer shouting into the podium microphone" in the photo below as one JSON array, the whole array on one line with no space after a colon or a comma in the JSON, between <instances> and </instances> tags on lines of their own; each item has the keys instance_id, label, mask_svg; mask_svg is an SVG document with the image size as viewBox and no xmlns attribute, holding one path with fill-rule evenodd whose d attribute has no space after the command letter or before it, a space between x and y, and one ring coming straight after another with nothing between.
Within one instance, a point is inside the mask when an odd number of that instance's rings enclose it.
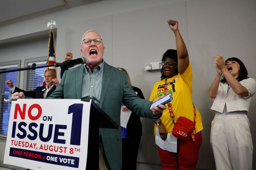
<instances>
[{"instance_id":1,"label":"white-haired man in green blazer shouting into the podium microphone","mask_svg":"<svg viewBox=\"0 0 256 170\"><path fill-rule=\"evenodd\" d=\"M154 106L150 110L152 102L143 100L135 94L126 79L126 73L103 60L104 49L101 35L95 30L87 31L81 39L81 54L86 58L86 63L66 70L62 81L49 98L91 98L119 125L119 129L100 128L99 169L120 170L122 169L120 128L122 102L139 116L155 120L161 116L166 107L159 104L158 107ZM23 98L22 94L12 97ZM159 98L154 101L157 100ZM88 155L90 156L92 155Z\"/></svg>"}]
</instances>

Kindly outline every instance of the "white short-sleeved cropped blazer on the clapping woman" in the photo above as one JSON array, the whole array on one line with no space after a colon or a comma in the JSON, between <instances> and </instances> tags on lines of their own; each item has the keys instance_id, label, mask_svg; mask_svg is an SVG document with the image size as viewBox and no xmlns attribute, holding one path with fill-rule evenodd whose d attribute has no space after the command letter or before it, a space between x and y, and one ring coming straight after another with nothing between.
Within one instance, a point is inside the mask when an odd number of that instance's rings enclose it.
<instances>
[{"instance_id":1,"label":"white short-sleeved cropped blazer on the clapping woman","mask_svg":"<svg viewBox=\"0 0 256 170\"><path fill-rule=\"evenodd\" d=\"M227 83L220 83L217 96L213 101L213 105L211 107L212 110L222 113L226 104L226 108L228 112L234 111L249 111L250 101L252 95L255 93L256 89L256 81L255 79L248 78L239 82L242 86L244 86L249 95L247 97L242 97L240 95L235 94L235 92L230 88L228 91Z\"/></svg>"}]
</instances>

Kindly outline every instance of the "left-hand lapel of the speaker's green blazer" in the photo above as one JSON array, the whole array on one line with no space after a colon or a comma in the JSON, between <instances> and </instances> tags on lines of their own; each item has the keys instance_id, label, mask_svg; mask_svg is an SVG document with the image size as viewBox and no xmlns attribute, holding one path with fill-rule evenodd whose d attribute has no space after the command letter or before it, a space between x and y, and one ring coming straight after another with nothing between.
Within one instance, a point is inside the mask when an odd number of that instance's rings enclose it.
<instances>
[{"instance_id":1,"label":"left-hand lapel of the speaker's green blazer","mask_svg":"<svg viewBox=\"0 0 256 170\"><path fill-rule=\"evenodd\" d=\"M76 77L75 80L75 88L76 88L76 98L77 99L81 99L82 98L82 79L84 77L84 64L82 64L81 66L78 67L78 69L76 69L76 75L74 75L74 77Z\"/></svg>"}]
</instances>

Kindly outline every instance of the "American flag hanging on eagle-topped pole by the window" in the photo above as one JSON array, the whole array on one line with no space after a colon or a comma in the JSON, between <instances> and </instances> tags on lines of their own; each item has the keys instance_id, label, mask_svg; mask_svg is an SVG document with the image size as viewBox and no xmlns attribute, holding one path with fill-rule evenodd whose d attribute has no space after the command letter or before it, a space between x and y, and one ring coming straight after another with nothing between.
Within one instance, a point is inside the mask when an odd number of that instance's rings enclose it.
<instances>
[{"instance_id":1,"label":"American flag hanging on eagle-topped pole by the window","mask_svg":"<svg viewBox=\"0 0 256 170\"><path fill-rule=\"evenodd\" d=\"M52 29L50 29L50 36L49 36L49 43L48 43L48 58L47 58L47 65L52 65L56 63L56 58L55 58L55 46L54 46L54 32ZM50 70L55 70L57 72L56 67L46 67L45 72L50 69ZM45 79L43 80L43 86L46 86Z\"/></svg>"}]
</instances>

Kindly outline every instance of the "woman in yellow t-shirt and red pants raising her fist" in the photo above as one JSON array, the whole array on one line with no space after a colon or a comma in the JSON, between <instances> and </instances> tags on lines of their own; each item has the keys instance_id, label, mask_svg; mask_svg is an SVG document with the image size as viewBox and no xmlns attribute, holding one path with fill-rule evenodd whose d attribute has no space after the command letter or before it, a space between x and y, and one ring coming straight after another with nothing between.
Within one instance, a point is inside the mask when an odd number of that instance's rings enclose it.
<instances>
[{"instance_id":1,"label":"woman in yellow t-shirt and red pants raising her fist","mask_svg":"<svg viewBox=\"0 0 256 170\"><path fill-rule=\"evenodd\" d=\"M174 114L174 121L183 116L194 121L194 107L192 101L192 69L188 58L186 45L178 29L178 22L168 20L169 27L175 34L177 50L167 50L162 56L161 80L156 82L149 100L154 100L165 93L172 94L171 108ZM164 110L160 119L155 121L155 128L159 129L160 137L166 140L167 134L172 135L173 121L170 110ZM196 109L196 127L194 130L194 141L192 137L188 141L177 139L177 153L169 152L158 147L159 157L163 170L196 169L199 148L202 143L201 130L203 129L202 118ZM156 133L156 132L155 132ZM156 135L156 134L155 134Z\"/></svg>"}]
</instances>

